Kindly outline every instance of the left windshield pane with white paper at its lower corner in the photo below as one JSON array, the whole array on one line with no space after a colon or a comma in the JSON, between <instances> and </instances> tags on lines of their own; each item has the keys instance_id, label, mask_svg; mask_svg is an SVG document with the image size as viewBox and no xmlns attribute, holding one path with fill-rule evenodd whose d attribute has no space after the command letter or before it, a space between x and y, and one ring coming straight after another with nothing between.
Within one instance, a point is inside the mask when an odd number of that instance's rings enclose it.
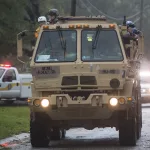
<instances>
[{"instance_id":1,"label":"left windshield pane with white paper at its lower corner","mask_svg":"<svg viewBox=\"0 0 150 150\"><path fill-rule=\"evenodd\" d=\"M75 30L43 31L35 62L74 62L77 59Z\"/></svg>"}]
</instances>

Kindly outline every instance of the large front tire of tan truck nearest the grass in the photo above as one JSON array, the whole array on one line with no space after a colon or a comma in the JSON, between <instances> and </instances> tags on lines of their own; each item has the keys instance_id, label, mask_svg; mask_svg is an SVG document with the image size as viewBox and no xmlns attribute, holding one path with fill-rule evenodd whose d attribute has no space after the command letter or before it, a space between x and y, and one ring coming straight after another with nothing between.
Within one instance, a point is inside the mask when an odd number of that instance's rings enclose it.
<instances>
[{"instance_id":1,"label":"large front tire of tan truck nearest the grass","mask_svg":"<svg viewBox=\"0 0 150 150\"><path fill-rule=\"evenodd\" d=\"M48 147L48 128L42 123L30 121L30 140L32 147Z\"/></svg>"}]
</instances>

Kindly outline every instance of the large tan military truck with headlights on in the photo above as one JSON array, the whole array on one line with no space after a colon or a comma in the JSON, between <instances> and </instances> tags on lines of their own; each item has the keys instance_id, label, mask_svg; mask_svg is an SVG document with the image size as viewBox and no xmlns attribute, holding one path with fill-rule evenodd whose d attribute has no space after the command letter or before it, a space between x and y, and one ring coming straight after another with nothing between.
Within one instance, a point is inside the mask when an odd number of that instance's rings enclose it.
<instances>
[{"instance_id":1,"label":"large tan military truck with headlights on","mask_svg":"<svg viewBox=\"0 0 150 150\"><path fill-rule=\"evenodd\" d=\"M72 127L116 127L121 145L136 145L143 36L124 39L126 32L104 17L62 17L42 26L31 61L33 147L60 140Z\"/></svg>"}]
</instances>

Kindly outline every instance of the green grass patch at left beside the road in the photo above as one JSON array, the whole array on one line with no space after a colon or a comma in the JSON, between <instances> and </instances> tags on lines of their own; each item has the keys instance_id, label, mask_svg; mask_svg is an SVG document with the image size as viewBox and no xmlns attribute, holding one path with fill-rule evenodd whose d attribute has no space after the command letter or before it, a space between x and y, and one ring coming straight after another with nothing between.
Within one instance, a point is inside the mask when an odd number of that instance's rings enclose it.
<instances>
[{"instance_id":1,"label":"green grass patch at left beside the road","mask_svg":"<svg viewBox=\"0 0 150 150\"><path fill-rule=\"evenodd\" d=\"M0 107L0 139L29 132L28 107Z\"/></svg>"}]
</instances>

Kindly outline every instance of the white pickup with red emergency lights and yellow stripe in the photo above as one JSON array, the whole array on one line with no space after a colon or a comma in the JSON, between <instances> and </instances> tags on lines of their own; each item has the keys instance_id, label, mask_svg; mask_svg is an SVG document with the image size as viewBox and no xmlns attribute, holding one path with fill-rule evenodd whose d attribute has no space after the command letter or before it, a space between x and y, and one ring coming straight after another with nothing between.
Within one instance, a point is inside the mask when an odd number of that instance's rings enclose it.
<instances>
[{"instance_id":1,"label":"white pickup with red emergency lights and yellow stripe","mask_svg":"<svg viewBox=\"0 0 150 150\"><path fill-rule=\"evenodd\" d=\"M31 97L31 74L19 74L17 68L0 64L0 100L13 103Z\"/></svg>"}]
</instances>

